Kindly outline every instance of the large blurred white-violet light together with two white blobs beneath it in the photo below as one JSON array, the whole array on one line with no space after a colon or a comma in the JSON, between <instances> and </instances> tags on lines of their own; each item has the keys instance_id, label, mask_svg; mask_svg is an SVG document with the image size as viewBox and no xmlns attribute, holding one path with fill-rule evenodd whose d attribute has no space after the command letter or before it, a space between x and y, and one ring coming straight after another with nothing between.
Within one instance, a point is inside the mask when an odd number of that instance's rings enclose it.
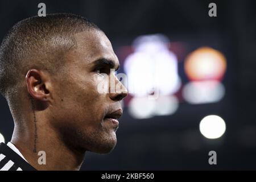
<instances>
[{"instance_id":1,"label":"large blurred white-violet light together with two white blobs beneath it","mask_svg":"<svg viewBox=\"0 0 256 182\"><path fill-rule=\"evenodd\" d=\"M125 59L128 90L133 96L130 114L137 119L173 114L178 101L172 94L181 86L177 57L162 34L143 35L134 40L134 52ZM156 94L154 100L147 96Z\"/></svg>"}]
</instances>

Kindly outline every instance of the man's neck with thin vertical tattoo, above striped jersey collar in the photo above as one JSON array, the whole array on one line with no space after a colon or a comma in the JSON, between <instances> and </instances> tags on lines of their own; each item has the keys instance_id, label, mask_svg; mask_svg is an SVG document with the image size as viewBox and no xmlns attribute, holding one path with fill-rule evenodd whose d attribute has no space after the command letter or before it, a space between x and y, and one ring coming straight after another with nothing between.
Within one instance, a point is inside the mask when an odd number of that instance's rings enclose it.
<instances>
[{"instance_id":1,"label":"man's neck with thin vertical tattoo, above striped jersey collar","mask_svg":"<svg viewBox=\"0 0 256 182\"><path fill-rule=\"evenodd\" d=\"M45 125L50 123L45 119L30 123L33 125L15 125L11 143L18 148L31 166L38 170L80 169L85 150L66 144L60 134Z\"/></svg>"}]
</instances>

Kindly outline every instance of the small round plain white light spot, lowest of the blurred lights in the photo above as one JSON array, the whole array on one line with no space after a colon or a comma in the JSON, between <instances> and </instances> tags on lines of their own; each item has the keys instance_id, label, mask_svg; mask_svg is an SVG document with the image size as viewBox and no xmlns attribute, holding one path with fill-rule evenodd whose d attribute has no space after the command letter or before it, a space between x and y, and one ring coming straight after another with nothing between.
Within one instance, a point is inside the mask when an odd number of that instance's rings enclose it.
<instances>
[{"instance_id":1,"label":"small round plain white light spot, lowest of the blurred lights","mask_svg":"<svg viewBox=\"0 0 256 182\"><path fill-rule=\"evenodd\" d=\"M216 139L220 138L225 133L226 124L218 115L208 115L201 120L199 129L204 137Z\"/></svg>"}]
</instances>

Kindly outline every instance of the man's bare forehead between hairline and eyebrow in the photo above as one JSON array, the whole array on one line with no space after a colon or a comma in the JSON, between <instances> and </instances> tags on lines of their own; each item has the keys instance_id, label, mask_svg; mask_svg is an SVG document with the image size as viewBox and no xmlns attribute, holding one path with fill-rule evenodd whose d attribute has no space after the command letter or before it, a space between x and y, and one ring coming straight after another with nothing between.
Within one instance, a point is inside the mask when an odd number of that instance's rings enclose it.
<instances>
[{"instance_id":1,"label":"man's bare forehead between hairline and eyebrow","mask_svg":"<svg viewBox=\"0 0 256 182\"><path fill-rule=\"evenodd\" d=\"M112 44L104 32L98 30L79 32L75 35L75 40L77 46L73 56L77 60L90 64L97 59L105 58L113 60L115 64L118 64Z\"/></svg>"}]
</instances>

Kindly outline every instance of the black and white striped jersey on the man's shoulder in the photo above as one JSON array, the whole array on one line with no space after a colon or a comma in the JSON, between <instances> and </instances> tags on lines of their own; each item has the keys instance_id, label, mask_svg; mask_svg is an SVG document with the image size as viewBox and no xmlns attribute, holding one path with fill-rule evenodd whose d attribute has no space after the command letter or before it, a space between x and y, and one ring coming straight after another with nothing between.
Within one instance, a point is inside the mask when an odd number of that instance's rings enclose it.
<instances>
[{"instance_id":1,"label":"black and white striped jersey on the man's shoulder","mask_svg":"<svg viewBox=\"0 0 256 182\"><path fill-rule=\"evenodd\" d=\"M16 154L5 143L0 143L0 171L35 171L36 169Z\"/></svg>"}]
</instances>

